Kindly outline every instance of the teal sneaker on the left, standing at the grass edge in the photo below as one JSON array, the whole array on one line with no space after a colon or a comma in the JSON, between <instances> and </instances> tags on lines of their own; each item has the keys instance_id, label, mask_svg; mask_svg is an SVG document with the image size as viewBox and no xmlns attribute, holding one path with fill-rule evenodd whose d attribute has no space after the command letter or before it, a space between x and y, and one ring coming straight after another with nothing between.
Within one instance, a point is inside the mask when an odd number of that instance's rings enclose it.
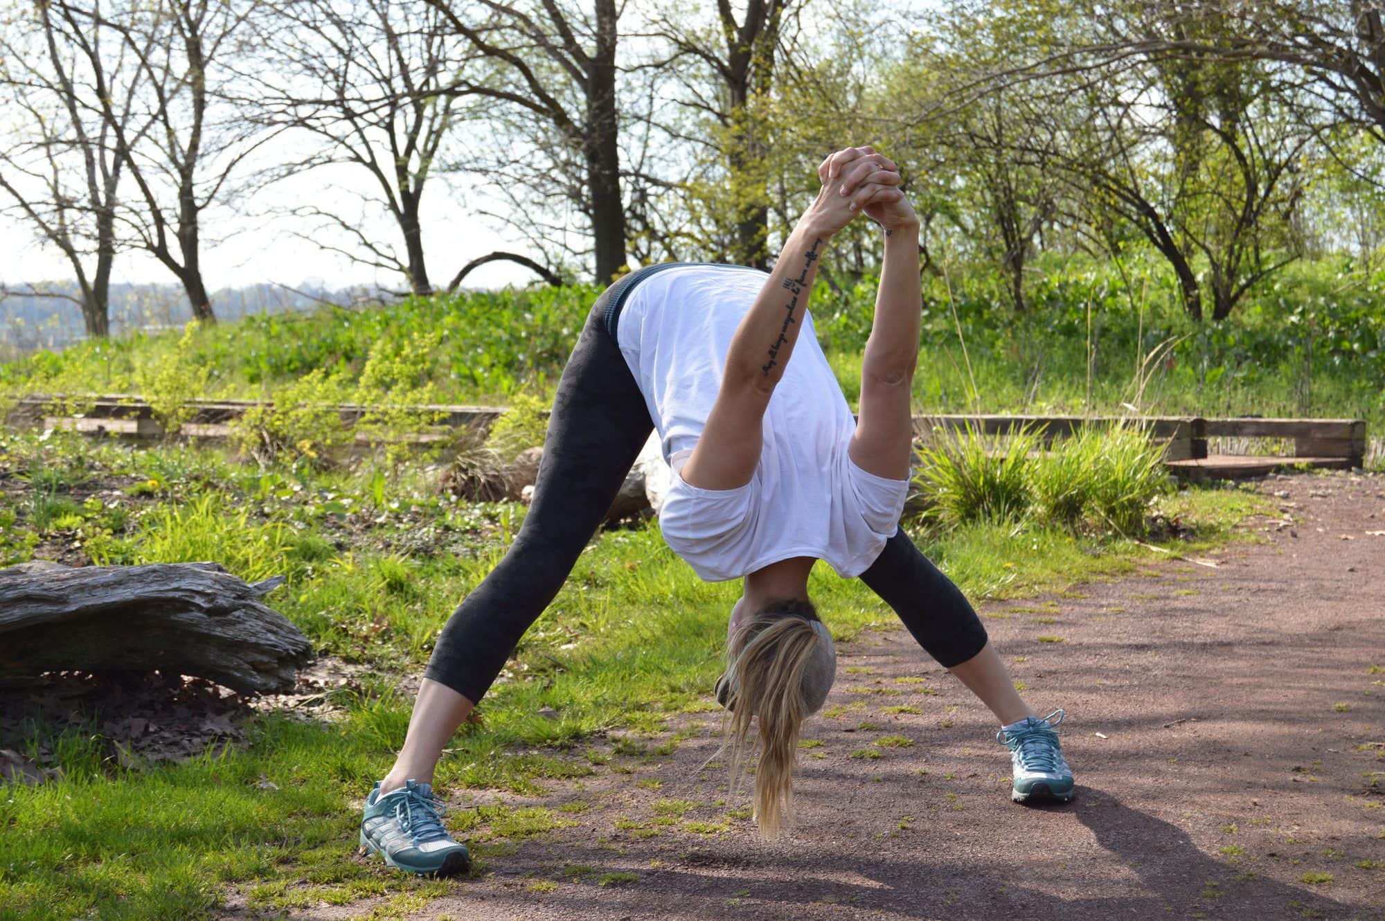
<instances>
[{"instance_id":1,"label":"teal sneaker on the left, standing at the grass edge","mask_svg":"<svg viewBox=\"0 0 1385 921\"><path fill-rule=\"evenodd\" d=\"M366 798L360 821L363 853L379 855L391 867L428 877L456 877L471 868L467 845L442 827L447 810L428 784L406 783L379 795L379 784Z\"/></svg>"}]
</instances>

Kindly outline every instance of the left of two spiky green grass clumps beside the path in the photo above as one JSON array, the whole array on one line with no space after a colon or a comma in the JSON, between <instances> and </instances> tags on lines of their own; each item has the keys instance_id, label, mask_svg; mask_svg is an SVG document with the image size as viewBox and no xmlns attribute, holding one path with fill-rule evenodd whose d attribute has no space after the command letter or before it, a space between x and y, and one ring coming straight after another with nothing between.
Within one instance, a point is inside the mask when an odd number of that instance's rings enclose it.
<instances>
[{"instance_id":1,"label":"left of two spiky green grass clumps beside the path","mask_svg":"<svg viewBox=\"0 0 1385 921\"><path fill-rule=\"evenodd\" d=\"M929 496L928 515L949 526L1024 518L1033 504L1033 451L1024 428L1008 438L972 427L950 431L921 451L915 483Z\"/></svg>"}]
</instances>

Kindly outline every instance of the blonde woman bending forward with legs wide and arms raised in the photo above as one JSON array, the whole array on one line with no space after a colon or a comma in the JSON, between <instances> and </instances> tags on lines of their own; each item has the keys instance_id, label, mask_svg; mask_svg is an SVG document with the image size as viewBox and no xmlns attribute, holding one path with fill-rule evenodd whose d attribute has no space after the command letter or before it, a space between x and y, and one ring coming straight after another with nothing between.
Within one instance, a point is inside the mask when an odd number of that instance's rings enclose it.
<instances>
[{"instance_id":1,"label":"blonde woman bending forward with legs wide and arms raised","mask_svg":"<svg viewBox=\"0 0 1385 921\"><path fill-rule=\"evenodd\" d=\"M1053 730L1061 710L1035 716L971 605L897 526L921 313L918 219L899 170L859 147L828 157L819 177L817 198L767 276L650 266L597 301L558 384L533 504L504 560L438 638L404 746L366 801L363 848L413 873L468 867L465 845L442 825L434 769L562 586L654 427L673 471L659 514L665 539L701 578L745 580L717 698L730 710L733 760L742 760L758 720L765 834L787 817L799 727L835 673L831 636L807 600L817 560L860 576L996 715L1015 801L1072 798ZM807 301L827 244L860 213L882 229L885 256L855 421Z\"/></svg>"}]
</instances>

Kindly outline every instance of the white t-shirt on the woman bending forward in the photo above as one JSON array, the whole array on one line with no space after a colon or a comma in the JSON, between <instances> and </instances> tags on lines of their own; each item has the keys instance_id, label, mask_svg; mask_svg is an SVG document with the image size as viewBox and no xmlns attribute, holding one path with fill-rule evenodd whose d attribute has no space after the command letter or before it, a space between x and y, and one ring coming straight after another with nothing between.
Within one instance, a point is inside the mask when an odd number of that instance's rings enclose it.
<instances>
[{"instance_id":1,"label":"white t-shirt on the woman bending forward","mask_svg":"<svg viewBox=\"0 0 1385 921\"><path fill-rule=\"evenodd\" d=\"M738 579L791 557L838 575L864 572L895 533L907 479L868 474L848 456L856 420L827 364L812 317L765 413L760 463L738 489L680 475L722 384L726 352L769 276L741 266L680 266L637 284L616 327L673 468L659 526L706 582Z\"/></svg>"}]
</instances>

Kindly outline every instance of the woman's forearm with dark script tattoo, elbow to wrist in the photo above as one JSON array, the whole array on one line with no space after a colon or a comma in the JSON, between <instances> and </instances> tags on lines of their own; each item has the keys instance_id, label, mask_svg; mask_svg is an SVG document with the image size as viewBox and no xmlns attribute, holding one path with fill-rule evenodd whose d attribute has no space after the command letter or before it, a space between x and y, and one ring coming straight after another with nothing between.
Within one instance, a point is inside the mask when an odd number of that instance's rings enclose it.
<instances>
[{"instance_id":1,"label":"woman's forearm with dark script tattoo, elbow to wrist","mask_svg":"<svg viewBox=\"0 0 1385 921\"><path fill-rule=\"evenodd\" d=\"M780 252L774 270L749 312L741 319L726 353L726 382L770 392L794 353L817 260L831 231L805 217Z\"/></svg>"}]
</instances>

